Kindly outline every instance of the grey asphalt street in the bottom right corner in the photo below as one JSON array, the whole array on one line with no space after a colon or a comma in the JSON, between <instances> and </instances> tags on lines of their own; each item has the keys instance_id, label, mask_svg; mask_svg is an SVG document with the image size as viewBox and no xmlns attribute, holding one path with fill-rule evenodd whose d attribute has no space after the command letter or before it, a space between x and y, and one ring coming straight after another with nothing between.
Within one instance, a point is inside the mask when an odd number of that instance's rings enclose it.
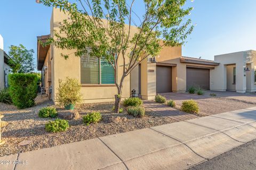
<instances>
[{"instance_id":1,"label":"grey asphalt street in the bottom right corner","mask_svg":"<svg viewBox=\"0 0 256 170\"><path fill-rule=\"evenodd\" d=\"M255 170L256 169L256 140L234 148L213 159L190 168L190 170Z\"/></svg>"}]
</instances>

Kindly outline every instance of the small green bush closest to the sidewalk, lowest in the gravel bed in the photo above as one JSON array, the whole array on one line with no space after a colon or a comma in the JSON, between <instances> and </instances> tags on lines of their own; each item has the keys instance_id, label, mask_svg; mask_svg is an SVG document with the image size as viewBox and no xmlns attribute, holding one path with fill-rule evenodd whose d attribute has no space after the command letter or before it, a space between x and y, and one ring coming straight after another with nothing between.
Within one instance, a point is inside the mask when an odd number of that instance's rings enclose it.
<instances>
[{"instance_id":1,"label":"small green bush closest to the sidewalk, lowest in the gravel bed","mask_svg":"<svg viewBox=\"0 0 256 170\"><path fill-rule=\"evenodd\" d=\"M63 132L69 128L68 121L57 118L55 121L49 121L45 124L45 130L47 132Z\"/></svg>"}]
</instances>

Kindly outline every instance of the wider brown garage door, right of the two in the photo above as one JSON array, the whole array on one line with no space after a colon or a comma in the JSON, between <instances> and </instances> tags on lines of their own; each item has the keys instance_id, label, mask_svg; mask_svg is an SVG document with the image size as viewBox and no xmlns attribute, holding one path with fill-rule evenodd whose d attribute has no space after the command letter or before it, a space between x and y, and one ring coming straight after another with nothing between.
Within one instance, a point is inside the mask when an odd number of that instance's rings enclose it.
<instances>
[{"instance_id":1,"label":"wider brown garage door, right of the two","mask_svg":"<svg viewBox=\"0 0 256 170\"><path fill-rule=\"evenodd\" d=\"M210 89L210 70L187 68L187 89L191 86Z\"/></svg>"}]
</instances>

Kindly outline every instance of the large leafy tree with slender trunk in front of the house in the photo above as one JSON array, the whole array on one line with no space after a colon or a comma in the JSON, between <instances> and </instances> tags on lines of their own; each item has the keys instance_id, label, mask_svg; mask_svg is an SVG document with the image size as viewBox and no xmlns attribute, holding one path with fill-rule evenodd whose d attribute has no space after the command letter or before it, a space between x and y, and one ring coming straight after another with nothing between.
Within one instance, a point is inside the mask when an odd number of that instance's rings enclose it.
<instances>
[{"instance_id":1,"label":"large leafy tree with slender trunk in front of the house","mask_svg":"<svg viewBox=\"0 0 256 170\"><path fill-rule=\"evenodd\" d=\"M61 49L75 49L78 57L89 53L113 66L116 113L121 103L123 81L134 67L148 56L157 56L163 46L182 45L193 31L191 20L187 18L193 8L183 7L186 0L140 0L142 6L135 6L135 0L40 2L58 7L70 16L61 22L60 30L54 31L49 43ZM134 12L135 7L144 13L139 16ZM132 25L138 28L135 34L131 31ZM68 54L61 55L66 59L69 57ZM120 75L118 66L122 66L122 77L117 79Z\"/></svg>"}]
</instances>

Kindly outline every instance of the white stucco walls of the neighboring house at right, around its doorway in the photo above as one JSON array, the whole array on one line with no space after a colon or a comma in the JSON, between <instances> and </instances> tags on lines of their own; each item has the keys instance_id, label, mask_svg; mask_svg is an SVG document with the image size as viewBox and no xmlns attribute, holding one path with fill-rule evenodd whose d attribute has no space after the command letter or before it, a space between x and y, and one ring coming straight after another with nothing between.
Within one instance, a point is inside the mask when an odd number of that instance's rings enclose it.
<instances>
[{"instance_id":1,"label":"white stucco walls of the neighboring house at right, around its doorway","mask_svg":"<svg viewBox=\"0 0 256 170\"><path fill-rule=\"evenodd\" d=\"M236 92L243 93L246 91L252 91L252 89L256 89L254 87L254 69L252 69L252 67L254 68L254 64L250 63L250 72L244 71L244 68L249 66L248 62L252 62L248 60L248 52L250 51L214 56L214 61L220 63L220 65L216 66L214 70L211 70L210 89L216 91L227 90L227 65L230 64L235 64L236 66ZM230 81L233 79L228 80Z\"/></svg>"}]
</instances>

